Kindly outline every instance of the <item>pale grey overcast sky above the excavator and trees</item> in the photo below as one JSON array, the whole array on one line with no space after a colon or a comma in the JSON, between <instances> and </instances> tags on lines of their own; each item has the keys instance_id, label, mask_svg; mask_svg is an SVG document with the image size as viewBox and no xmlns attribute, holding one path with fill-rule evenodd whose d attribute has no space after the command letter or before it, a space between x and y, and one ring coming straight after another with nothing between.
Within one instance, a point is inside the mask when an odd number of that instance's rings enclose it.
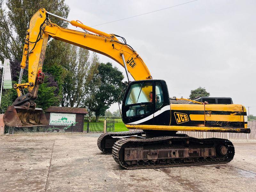
<instances>
[{"instance_id":1,"label":"pale grey overcast sky above the excavator and trees","mask_svg":"<svg viewBox=\"0 0 256 192\"><path fill-rule=\"evenodd\" d=\"M68 18L94 26L189 0L66 0ZM169 95L188 98L205 87L213 97L231 97L256 115L256 1L198 0L95 28L126 38ZM72 28L72 27L70 27ZM100 55L101 62L114 60ZM111 106L110 111L118 108Z\"/></svg>"}]
</instances>

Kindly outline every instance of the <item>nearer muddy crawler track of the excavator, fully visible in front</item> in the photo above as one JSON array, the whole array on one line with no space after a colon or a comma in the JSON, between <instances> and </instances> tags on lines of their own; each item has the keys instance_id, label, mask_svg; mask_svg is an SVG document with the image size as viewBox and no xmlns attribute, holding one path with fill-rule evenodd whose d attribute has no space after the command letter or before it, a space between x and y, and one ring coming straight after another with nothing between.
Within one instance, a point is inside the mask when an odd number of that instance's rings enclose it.
<instances>
[{"instance_id":1,"label":"nearer muddy crawler track of the excavator, fully visible in front","mask_svg":"<svg viewBox=\"0 0 256 192\"><path fill-rule=\"evenodd\" d=\"M226 139L197 139L184 135L122 138L112 148L115 161L125 169L225 164L235 155Z\"/></svg>"}]
</instances>

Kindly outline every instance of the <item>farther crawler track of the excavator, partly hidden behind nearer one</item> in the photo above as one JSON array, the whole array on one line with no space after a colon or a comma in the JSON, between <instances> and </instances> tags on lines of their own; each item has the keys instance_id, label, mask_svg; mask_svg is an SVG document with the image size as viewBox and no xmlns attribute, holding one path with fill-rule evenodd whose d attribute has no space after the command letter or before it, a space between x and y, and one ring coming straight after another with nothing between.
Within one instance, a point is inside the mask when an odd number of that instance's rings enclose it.
<instances>
[{"instance_id":1,"label":"farther crawler track of the excavator, partly hidden behind nearer one","mask_svg":"<svg viewBox=\"0 0 256 192\"><path fill-rule=\"evenodd\" d=\"M142 135L145 134L142 131L133 131L133 132L108 132L102 133L98 138L97 145L98 148L105 154L112 154L112 147L114 143L121 138L113 138L113 137L125 137L125 136L133 136L133 135Z\"/></svg>"}]
</instances>

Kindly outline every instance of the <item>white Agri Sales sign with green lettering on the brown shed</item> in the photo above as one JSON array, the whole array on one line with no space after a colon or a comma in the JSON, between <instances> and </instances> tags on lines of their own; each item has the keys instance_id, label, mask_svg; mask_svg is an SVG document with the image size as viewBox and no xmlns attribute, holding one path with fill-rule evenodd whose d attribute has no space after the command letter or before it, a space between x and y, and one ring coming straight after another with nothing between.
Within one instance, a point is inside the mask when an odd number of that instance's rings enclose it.
<instances>
[{"instance_id":1,"label":"white Agri Sales sign with green lettering on the brown shed","mask_svg":"<svg viewBox=\"0 0 256 192\"><path fill-rule=\"evenodd\" d=\"M76 114L71 113L51 113L50 125L71 125L76 123Z\"/></svg>"}]
</instances>

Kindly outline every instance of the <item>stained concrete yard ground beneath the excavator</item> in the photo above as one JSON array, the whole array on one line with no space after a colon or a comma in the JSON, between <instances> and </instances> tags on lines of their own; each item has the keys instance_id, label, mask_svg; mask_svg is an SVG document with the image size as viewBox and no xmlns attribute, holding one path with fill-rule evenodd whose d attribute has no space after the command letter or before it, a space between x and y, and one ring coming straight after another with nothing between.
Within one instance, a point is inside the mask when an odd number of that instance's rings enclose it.
<instances>
[{"instance_id":1,"label":"stained concrete yard ground beneath the excavator","mask_svg":"<svg viewBox=\"0 0 256 192\"><path fill-rule=\"evenodd\" d=\"M256 191L256 143L228 164L124 170L99 135L0 136L0 191Z\"/></svg>"}]
</instances>

